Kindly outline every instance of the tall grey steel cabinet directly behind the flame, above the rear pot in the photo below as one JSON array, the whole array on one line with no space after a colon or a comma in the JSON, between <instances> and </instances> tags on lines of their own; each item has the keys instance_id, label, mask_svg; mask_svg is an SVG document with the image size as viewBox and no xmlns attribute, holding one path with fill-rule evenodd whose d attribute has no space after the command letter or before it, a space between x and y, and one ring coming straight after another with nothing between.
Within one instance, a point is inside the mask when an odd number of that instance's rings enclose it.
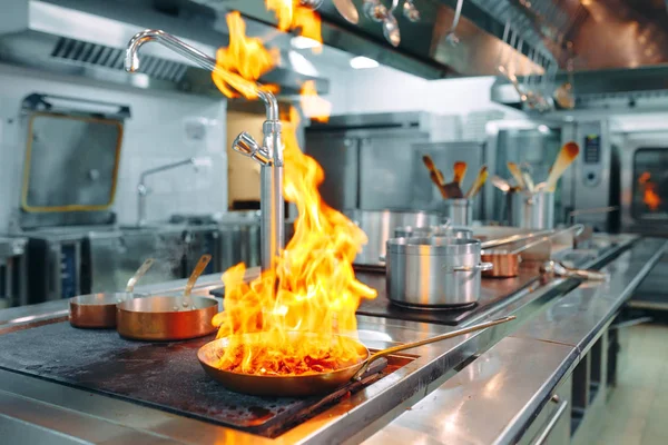
<instances>
[{"instance_id":1,"label":"tall grey steel cabinet directly behind the flame, above the rear pot","mask_svg":"<svg viewBox=\"0 0 668 445\"><path fill-rule=\"evenodd\" d=\"M385 208L424 209L415 205L416 169L432 186L411 146L442 137L444 117L425 112L332 116L327 123L306 128L305 151L323 167L320 187L328 206L337 210ZM423 201L425 199L423 198Z\"/></svg>"}]
</instances>

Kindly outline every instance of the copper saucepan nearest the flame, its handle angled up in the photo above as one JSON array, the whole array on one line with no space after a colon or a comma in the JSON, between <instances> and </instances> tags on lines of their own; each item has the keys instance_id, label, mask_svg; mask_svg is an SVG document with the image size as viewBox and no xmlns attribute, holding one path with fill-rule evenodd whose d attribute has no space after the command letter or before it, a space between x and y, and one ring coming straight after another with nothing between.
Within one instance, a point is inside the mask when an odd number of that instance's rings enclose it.
<instances>
[{"instance_id":1,"label":"copper saucepan nearest the flame, its handle angled up","mask_svg":"<svg viewBox=\"0 0 668 445\"><path fill-rule=\"evenodd\" d=\"M209 255L204 257L210 259ZM199 260L186 288L193 288L208 259ZM185 340L212 334L216 330L212 318L218 313L218 301L191 297L189 289L188 296L151 295L119 303L116 307L118 334L138 340Z\"/></svg>"}]
</instances>

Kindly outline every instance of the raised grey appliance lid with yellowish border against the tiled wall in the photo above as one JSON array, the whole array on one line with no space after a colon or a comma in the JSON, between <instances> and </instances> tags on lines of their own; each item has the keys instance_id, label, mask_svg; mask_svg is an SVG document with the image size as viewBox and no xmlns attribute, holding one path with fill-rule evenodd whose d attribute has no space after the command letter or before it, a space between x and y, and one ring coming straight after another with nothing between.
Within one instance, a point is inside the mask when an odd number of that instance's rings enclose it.
<instances>
[{"instance_id":1,"label":"raised grey appliance lid with yellowish border against the tiled wall","mask_svg":"<svg viewBox=\"0 0 668 445\"><path fill-rule=\"evenodd\" d=\"M21 228L112 224L129 107L42 93L21 107Z\"/></svg>"}]
</instances>

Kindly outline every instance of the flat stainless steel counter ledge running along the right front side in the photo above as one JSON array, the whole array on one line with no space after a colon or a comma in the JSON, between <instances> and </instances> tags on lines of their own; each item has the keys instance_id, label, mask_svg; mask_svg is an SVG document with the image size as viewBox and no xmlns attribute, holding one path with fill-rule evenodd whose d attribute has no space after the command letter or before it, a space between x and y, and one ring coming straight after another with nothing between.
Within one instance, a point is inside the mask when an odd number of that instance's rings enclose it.
<instances>
[{"instance_id":1,"label":"flat stainless steel counter ledge running along the right front side","mask_svg":"<svg viewBox=\"0 0 668 445\"><path fill-rule=\"evenodd\" d=\"M639 250L648 255L633 260ZM364 443L515 442L667 250L667 241L639 241L603 268L609 281L559 298Z\"/></svg>"}]
</instances>

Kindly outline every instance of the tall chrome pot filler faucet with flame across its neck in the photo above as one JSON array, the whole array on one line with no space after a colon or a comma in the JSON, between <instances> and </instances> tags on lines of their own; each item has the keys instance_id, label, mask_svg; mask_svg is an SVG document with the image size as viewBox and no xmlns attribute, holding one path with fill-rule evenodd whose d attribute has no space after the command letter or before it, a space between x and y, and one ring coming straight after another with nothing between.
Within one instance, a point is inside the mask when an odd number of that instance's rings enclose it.
<instances>
[{"instance_id":1,"label":"tall chrome pot filler faucet with flame across its neck","mask_svg":"<svg viewBox=\"0 0 668 445\"><path fill-rule=\"evenodd\" d=\"M176 37L160 30L147 29L132 37L126 50L125 69L136 72L139 69L139 48L144 43L156 41L174 52L209 71L223 71L216 60ZM264 270L273 269L274 259L281 253L284 243L285 218L283 215L283 144L282 125L278 119L278 101L268 91L257 89L257 96L264 102L267 119L263 125L262 146L246 131L234 140L232 148L253 158L261 168L261 264Z\"/></svg>"}]
</instances>

